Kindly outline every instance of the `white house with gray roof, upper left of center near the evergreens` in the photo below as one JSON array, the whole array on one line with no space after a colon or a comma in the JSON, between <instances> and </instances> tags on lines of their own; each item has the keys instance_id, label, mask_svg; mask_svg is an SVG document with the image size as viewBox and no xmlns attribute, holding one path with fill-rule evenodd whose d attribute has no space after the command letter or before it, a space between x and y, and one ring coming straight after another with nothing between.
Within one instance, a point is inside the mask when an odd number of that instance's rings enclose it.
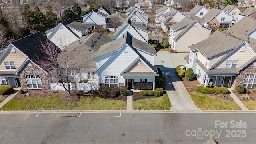
<instances>
[{"instance_id":1,"label":"white house with gray roof, upper left of center near the evergreens","mask_svg":"<svg viewBox=\"0 0 256 144\"><path fill-rule=\"evenodd\" d=\"M89 14L82 16L85 26L89 26L92 30L96 29L97 26L106 26L106 22L109 14L100 12L98 9L92 10Z\"/></svg>"}]
</instances>

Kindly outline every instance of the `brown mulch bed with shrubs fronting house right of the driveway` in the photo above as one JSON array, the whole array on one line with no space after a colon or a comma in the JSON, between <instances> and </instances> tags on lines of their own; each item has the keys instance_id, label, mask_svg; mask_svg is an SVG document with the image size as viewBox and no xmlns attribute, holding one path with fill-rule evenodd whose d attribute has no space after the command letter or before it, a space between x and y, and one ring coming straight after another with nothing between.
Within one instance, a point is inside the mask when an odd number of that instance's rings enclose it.
<instances>
[{"instance_id":1,"label":"brown mulch bed with shrubs fronting house right of the driveway","mask_svg":"<svg viewBox=\"0 0 256 144\"><path fill-rule=\"evenodd\" d=\"M192 81L187 81L186 78L180 78L182 81L183 85L187 89L188 92L195 92L199 93L195 90L196 86L200 85L199 82L194 78ZM218 98L222 98L225 100L233 100L229 95L227 94L207 94L208 96L215 96Z\"/></svg>"}]
</instances>

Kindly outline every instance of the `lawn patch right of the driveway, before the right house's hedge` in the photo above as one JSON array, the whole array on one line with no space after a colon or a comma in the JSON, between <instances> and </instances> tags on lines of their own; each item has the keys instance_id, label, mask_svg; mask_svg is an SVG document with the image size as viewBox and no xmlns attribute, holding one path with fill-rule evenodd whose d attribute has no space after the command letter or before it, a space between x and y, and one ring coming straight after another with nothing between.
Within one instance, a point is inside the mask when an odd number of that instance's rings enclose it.
<instances>
[{"instance_id":1,"label":"lawn patch right of the driveway, before the right house's hedge","mask_svg":"<svg viewBox=\"0 0 256 144\"><path fill-rule=\"evenodd\" d=\"M234 101L194 92L189 94L196 106L201 110L241 110Z\"/></svg>"}]
</instances>

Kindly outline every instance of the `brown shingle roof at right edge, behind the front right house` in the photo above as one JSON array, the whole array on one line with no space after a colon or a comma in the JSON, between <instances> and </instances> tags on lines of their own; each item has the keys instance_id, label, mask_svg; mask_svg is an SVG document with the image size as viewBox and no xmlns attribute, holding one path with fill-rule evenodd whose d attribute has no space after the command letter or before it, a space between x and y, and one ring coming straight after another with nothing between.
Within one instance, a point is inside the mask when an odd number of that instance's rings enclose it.
<instances>
[{"instance_id":1,"label":"brown shingle roof at right edge, behind the front right house","mask_svg":"<svg viewBox=\"0 0 256 144\"><path fill-rule=\"evenodd\" d=\"M226 31L227 34L231 34L237 38L248 41L248 34L256 28L256 20L250 16L244 16L234 26ZM249 38L250 47L256 52L256 40Z\"/></svg>"}]
</instances>

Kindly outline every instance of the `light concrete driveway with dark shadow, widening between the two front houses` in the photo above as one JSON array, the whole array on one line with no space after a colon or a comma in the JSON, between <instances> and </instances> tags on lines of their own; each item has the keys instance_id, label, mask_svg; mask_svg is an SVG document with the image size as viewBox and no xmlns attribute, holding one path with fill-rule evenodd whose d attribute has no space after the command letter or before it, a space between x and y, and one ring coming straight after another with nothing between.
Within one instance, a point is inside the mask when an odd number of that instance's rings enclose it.
<instances>
[{"instance_id":1,"label":"light concrete driveway with dark shadow, widening between the two front houses","mask_svg":"<svg viewBox=\"0 0 256 144\"><path fill-rule=\"evenodd\" d=\"M165 88L172 104L171 111L198 111L186 88L176 74L176 66L184 64L183 58L188 53L169 53L167 51L157 52L155 67L162 70L166 77Z\"/></svg>"}]
</instances>

